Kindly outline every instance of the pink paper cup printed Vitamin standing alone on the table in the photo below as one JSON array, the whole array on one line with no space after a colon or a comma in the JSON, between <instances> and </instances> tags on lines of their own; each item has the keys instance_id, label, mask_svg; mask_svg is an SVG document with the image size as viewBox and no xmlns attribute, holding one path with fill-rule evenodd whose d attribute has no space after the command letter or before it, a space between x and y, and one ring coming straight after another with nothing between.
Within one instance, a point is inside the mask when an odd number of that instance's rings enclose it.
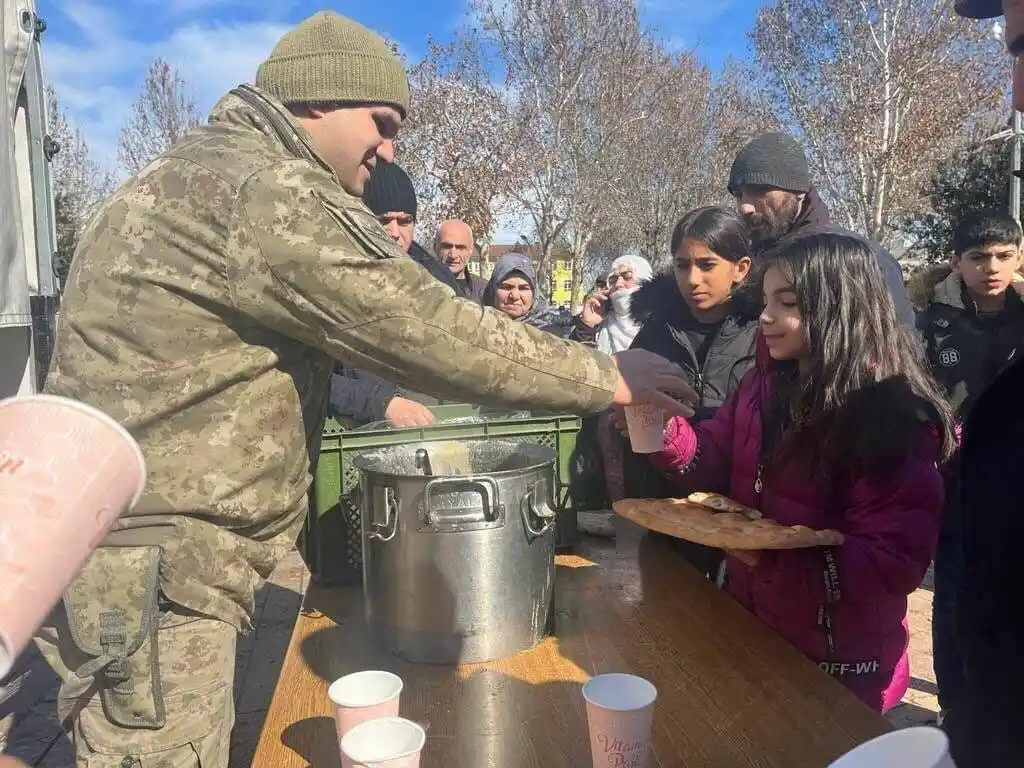
<instances>
[{"instance_id":1,"label":"pink paper cup printed Vitamin standing alone on the table","mask_svg":"<svg viewBox=\"0 0 1024 768\"><path fill-rule=\"evenodd\" d=\"M620 673L597 675L583 686L594 768L647 768L657 689Z\"/></svg>"}]
</instances>

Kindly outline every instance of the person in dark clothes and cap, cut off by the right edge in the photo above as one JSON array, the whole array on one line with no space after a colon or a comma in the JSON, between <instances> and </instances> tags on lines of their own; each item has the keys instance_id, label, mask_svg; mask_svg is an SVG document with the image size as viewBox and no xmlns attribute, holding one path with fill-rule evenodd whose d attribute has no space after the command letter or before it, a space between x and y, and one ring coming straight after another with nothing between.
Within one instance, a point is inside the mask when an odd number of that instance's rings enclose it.
<instances>
[{"instance_id":1,"label":"person in dark clothes and cap, cut off by the right edge","mask_svg":"<svg viewBox=\"0 0 1024 768\"><path fill-rule=\"evenodd\" d=\"M955 0L966 18L1005 16L1015 57L1013 104L1024 110L1024 0ZM1020 173L1019 171L1017 172ZM1004 371L964 425L956 646L964 659L961 703L943 721L959 768L1024 765L1024 360Z\"/></svg>"}]
</instances>

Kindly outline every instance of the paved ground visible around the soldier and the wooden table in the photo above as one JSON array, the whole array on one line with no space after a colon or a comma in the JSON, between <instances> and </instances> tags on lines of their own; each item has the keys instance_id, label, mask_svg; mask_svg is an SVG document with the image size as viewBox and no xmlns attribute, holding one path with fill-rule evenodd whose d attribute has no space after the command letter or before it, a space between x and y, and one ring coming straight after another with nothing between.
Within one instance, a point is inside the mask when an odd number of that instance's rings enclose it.
<instances>
[{"instance_id":1,"label":"paved ground visible around the soldier and the wooden table","mask_svg":"<svg viewBox=\"0 0 1024 768\"><path fill-rule=\"evenodd\" d=\"M298 553L293 553L259 592L254 620L256 631L239 641L234 688L238 716L231 739L230 768L248 768L252 764L308 578ZM935 720L938 708L932 673L931 615L929 574L922 589L910 599L913 679L904 702L889 715L898 727ZM68 768L74 765L71 742L54 717L56 679L49 668L38 654L28 653L11 679L14 683L8 686L6 698L0 693L0 744L6 739L6 751L33 766Z\"/></svg>"}]
</instances>

